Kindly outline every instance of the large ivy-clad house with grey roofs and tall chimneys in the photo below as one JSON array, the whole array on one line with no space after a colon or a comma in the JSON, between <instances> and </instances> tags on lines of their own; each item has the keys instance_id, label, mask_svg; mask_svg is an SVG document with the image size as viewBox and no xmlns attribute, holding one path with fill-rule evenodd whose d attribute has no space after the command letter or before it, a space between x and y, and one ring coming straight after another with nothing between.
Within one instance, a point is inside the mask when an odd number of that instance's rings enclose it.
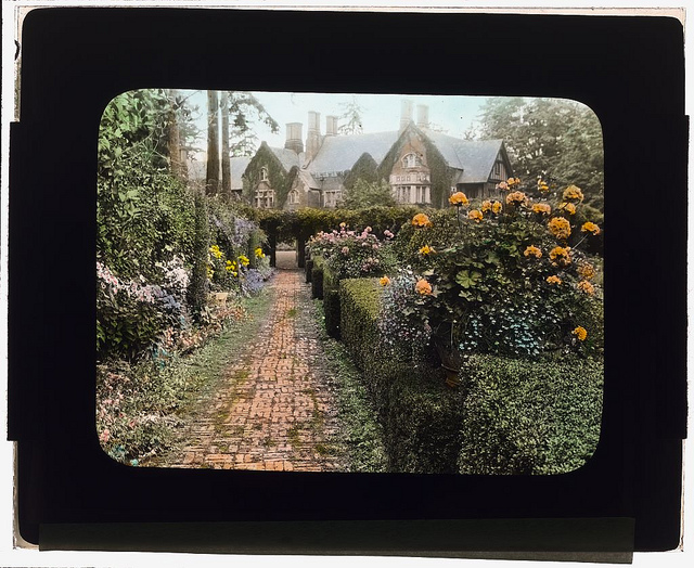
<instances>
[{"instance_id":1,"label":"large ivy-clad house with grey roofs and tall chimneys","mask_svg":"<svg viewBox=\"0 0 694 568\"><path fill-rule=\"evenodd\" d=\"M262 143L252 158L232 159L232 191L256 207L335 207L357 178L383 179L398 203L445 207L457 191L470 198L499 195L497 183L513 173L501 140L461 140L428 127L428 107L402 102L400 128L369 134L338 134L337 117L320 114L286 125L284 147ZM242 172L243 170L243 172Z\"/></svg>"}]
</instances>

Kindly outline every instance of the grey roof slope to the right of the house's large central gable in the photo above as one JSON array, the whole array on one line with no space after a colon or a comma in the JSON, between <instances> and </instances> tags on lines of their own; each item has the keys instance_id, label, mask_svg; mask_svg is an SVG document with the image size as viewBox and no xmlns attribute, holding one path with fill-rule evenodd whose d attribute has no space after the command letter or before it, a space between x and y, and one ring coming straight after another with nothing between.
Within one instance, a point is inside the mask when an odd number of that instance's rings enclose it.
<instances>
[{"instance_id":1,"label":"grey roof slope to the right of the house's large central gable","mask_svg":"<svg viewBox=\"0 0 694 568\"><path fill-rule=\"evenodd\" d=\"M434 143L451 168L460 169L458 183L484 183L502 147L502 140L460 140L427 130Z\"/></svg>"}]
</instances>

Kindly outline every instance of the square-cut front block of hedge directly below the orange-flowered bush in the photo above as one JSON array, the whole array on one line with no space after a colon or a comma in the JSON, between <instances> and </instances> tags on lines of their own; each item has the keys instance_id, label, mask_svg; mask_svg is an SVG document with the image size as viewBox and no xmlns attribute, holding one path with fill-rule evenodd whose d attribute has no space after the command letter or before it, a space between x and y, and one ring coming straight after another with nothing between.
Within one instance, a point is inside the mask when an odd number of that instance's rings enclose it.
<instances>
[{"instance_id":1,"label":"square-cut front block of hedge directly below the orange-flowered bush","mask_svg":"<svg viewBox=\"0 0 694 568\"><path fill-rule=\"evenodd\" d=\"M475 356L461 371L462 474L561 474L582 466L600 438L603 365Z\"/></svg>"}]
</instances>

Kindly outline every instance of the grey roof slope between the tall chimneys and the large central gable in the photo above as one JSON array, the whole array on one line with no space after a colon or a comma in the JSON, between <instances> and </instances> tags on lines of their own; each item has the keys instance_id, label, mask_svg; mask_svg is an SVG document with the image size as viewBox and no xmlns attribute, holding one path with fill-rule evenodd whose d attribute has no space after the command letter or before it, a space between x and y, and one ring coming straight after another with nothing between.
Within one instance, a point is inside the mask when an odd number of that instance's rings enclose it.
<instances>
[{"instance_id":1,"label":"grey roof slope between the tall chimneys and the large central gable","mask_svg":"<svg viewBox=\"0 0 694 568\"><path fill-rule=\"evenodd\" d=\"M351 169L363 153L381 164L398 139L398 131L325 137L318 154L307 169L313 175Z\"/></svg>"}]
</instances>

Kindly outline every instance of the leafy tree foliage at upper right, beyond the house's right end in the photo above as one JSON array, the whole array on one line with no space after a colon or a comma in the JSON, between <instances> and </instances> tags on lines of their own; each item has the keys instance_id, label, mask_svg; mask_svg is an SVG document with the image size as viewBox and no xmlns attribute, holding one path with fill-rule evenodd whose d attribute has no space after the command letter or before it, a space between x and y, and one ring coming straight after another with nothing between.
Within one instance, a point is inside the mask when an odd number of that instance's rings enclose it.
<instances>
[{"instance_id":1,"label":"leafy tree foliage at upper right, beyond the house's right end","mask_svg":"<svg viewBox=\"0 0 694 568\"><path fill-rule=\"evenodd\" d=\"M503 139L517 176L575 183L602 209L602 128L589 107L558 99L491 98L480 122L484 138Z\"/></svg>"}]
</instances>

